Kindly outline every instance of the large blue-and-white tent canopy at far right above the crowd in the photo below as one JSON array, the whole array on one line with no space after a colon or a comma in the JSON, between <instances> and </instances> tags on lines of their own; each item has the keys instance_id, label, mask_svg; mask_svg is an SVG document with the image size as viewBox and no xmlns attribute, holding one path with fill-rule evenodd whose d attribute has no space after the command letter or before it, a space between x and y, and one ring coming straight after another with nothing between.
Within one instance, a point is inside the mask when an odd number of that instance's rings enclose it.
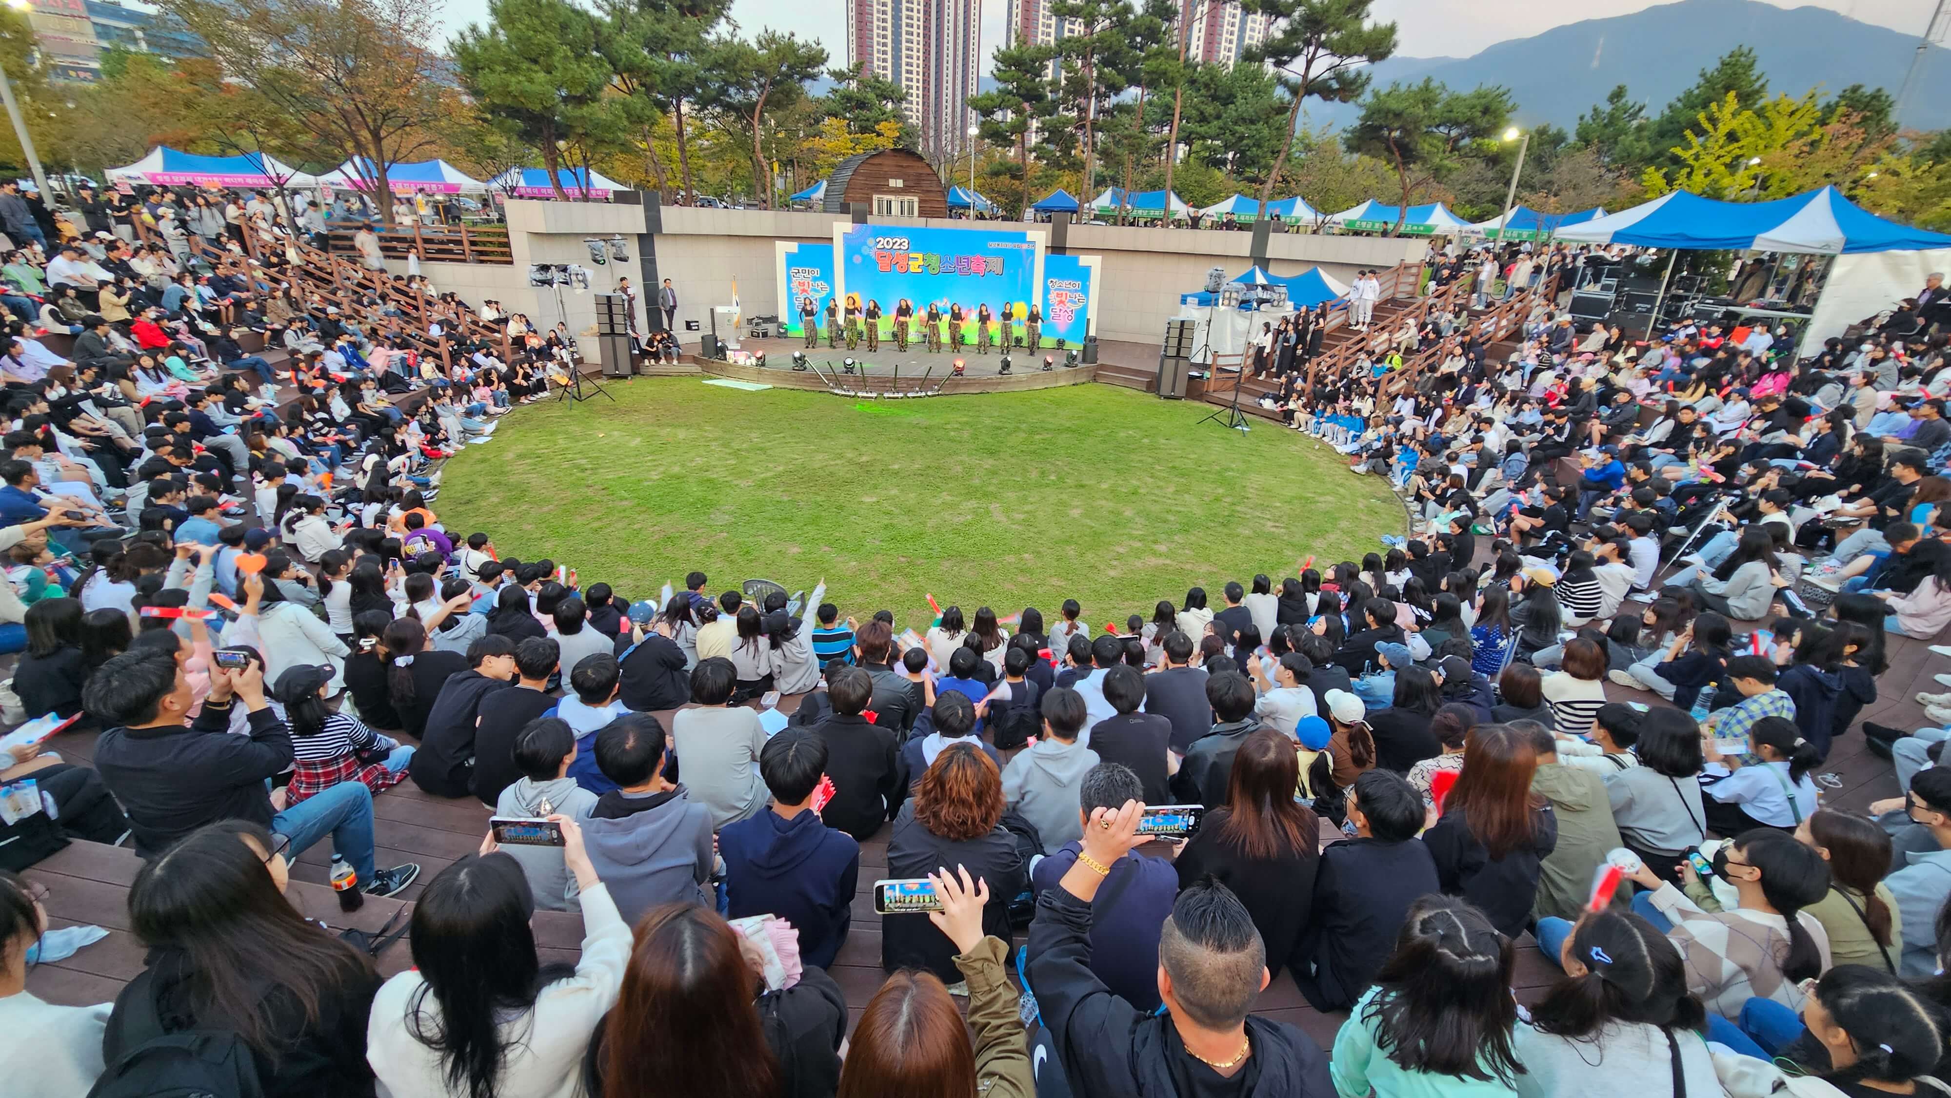
<instances>
[{"instance_id":1,"label":"large blue-and-white tent canopy at far right above the crowd","mask_svg":"<svg viewBox=\"0 0 1951 1098\"><path fill-rule=\"evenodd\" d=\"M1885 220L1836 187L1772 203L1721 203L1686 191L1559 228L1561 240L1641 248L1853 255L1951 248L1951 236Z\"/></svg>"}]
</instances>

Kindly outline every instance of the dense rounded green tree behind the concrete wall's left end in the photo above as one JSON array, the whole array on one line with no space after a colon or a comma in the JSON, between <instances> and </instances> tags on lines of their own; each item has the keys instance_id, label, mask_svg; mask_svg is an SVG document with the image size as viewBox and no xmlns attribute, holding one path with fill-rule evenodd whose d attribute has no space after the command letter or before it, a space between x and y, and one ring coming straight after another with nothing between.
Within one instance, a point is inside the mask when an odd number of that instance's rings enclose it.
<instances>
[{"instance_id":1,"label":"dense rounded green tree behind the concrete wall's left end","mask_svg":"<svg viewBox=\"0 0 1951 1098\"><path fill-rule=\"evenodd\" d=\"M542 152L558 199L562 150L603 133L611 66L597 51L597 18L568 0L490 0L488 23L455 37L460 84L488 117Z\"/></svg>"}]
</instances>

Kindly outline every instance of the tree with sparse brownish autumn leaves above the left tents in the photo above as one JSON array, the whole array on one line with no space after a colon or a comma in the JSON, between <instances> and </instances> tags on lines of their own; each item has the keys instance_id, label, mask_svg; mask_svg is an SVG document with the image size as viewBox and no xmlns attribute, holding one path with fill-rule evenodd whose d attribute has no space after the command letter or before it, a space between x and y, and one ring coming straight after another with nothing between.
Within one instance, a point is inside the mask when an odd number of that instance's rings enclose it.
<instances>
[{"instance_id":1,"label":"tree with sparse brownish autumn leaves above the left tents","mask_svg":"<svg viewBox=\"0 0 1951 1098\"><path fill-rule=\"evenodd\" d=\"M308 160L361 156L380 216L392 220L384 168L414 160L429 127L451 109L437 39L437 4L425 0L158 0L211 49L226 80L310 135Z\"/></svg>"}]
</instances>

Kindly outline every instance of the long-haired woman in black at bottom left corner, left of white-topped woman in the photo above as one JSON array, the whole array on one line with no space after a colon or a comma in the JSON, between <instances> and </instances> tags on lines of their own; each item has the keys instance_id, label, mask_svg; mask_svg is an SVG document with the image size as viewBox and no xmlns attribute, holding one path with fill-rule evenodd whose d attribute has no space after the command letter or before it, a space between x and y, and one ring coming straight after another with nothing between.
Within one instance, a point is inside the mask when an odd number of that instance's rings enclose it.
<instances>
[{"instance_id":1,"label":"long-haired woman in black at bottom left corner, left of white-topped woman","mask_svg":"<svg viewBox=\"0 0 1951 1098\"><path fill-rule=\"evenodd\" d=\"M252 1055L269 1094L373 1094L365 954L285 899L283 843L240 819L201 827L129 885L129 928L148 950L115 997L101 1055L162 1034L219 1030ZM140 1063L140 1061L139 1061Z\"/></svg>"}]
</instances>

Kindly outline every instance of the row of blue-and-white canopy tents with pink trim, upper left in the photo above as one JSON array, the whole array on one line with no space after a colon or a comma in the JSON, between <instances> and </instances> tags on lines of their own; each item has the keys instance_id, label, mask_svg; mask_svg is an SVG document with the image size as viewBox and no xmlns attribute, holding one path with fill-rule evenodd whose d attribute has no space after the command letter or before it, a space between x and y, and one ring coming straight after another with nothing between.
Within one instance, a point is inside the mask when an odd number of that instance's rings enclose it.
<instances>
[{"instance_id":1,"label":"row of blue-and-white canopy tents with pink trim, upper left","mask_svg":"<svg viewBox=\"0 0 1951 1098\"><path fill-rule=\"evenodd\" d=\"M371 189L377 172L373 162L353 158L338 168L312 176L277 160L267 152L242 152L238 156L199 156L158 144L148 156L135 164L109 168L107 177L133 183L154 183L160 187L203 185L203 187L347 187ZM622 183L605 177L601 172L585 168L560 168L556 176L570 197L605 199L611 191L624 189ZM418 160L392 164L386 168L386 185L398 191L431 193L482 193L501 191L515 197L552 197L556 189L548 181L544 168L509 168L494 179L476 179L445 160Z\"/></svg>"}]
</instances>

